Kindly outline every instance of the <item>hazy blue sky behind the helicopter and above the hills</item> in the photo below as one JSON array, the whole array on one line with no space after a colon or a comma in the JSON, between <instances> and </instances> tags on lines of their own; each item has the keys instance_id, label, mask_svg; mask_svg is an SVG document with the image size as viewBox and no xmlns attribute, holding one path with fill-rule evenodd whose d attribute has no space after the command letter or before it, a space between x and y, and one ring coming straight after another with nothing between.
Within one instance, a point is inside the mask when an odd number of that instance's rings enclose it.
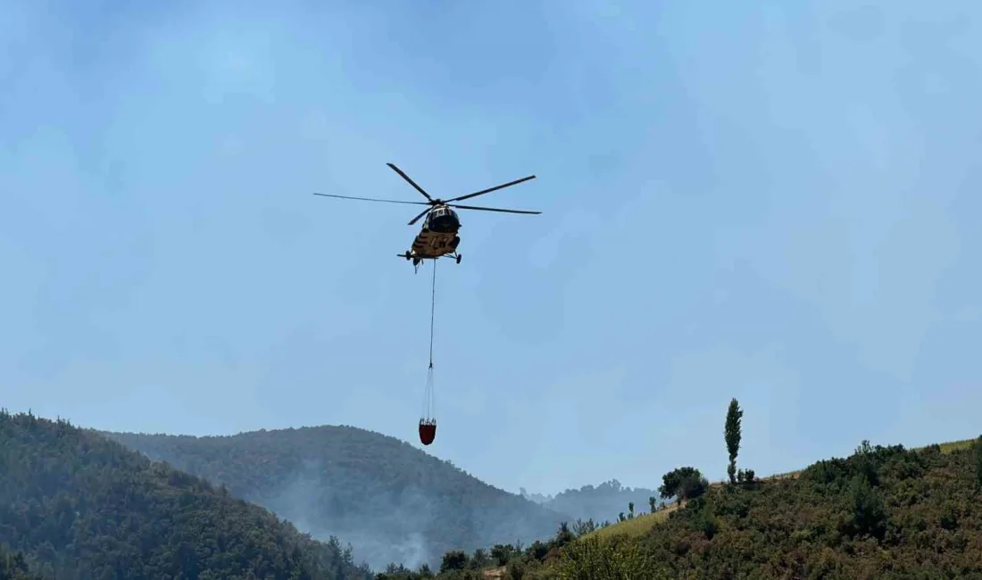
<instances>
[{"instance_id":1,"label":"hazy blue sky behind the helicopter and above the hills","mask_svg":"<svg viewBox=\"0 0 982 580\"><path fill-rule=\"evenodd\" d=\"M979 435L982 6L110 2L0 12L0 397L346 424L556 493ZM888 7L888 8L884 8Z\"/></svg>"}]
</instances>

